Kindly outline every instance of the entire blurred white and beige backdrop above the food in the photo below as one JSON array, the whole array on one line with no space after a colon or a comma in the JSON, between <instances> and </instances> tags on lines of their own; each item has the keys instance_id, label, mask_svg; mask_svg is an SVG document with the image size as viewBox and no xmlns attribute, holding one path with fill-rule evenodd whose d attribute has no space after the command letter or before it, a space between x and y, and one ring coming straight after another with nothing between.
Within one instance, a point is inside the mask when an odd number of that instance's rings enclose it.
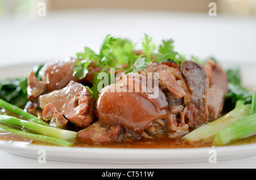
<instances>
[{"instance_id":1,"label":"entire blurred white and beige backdrop above the food","mask_svg":"<svg viewBox=\"0 0 256 180\"><path fill-rule=\"evenodd\" d=\"M256 0L0 0L0 66L98 50L144 33L199 58L255 63Z\"/></svg>"}]
</instances>

